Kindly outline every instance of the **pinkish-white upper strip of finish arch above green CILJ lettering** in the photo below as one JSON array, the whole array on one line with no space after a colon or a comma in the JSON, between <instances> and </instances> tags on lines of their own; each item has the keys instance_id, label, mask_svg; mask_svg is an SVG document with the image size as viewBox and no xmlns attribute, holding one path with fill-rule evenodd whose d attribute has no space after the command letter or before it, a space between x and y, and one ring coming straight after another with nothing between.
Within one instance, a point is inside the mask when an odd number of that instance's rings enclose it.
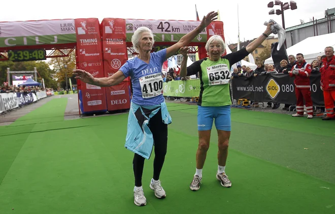
<instances>
[{"instance_id":1,"label":"pinkish-white upper strip of finish arch above green CILJ lettering","mask_svg":"<svg viewBox=\"0 0 335 214\"><path fill-rule=\"evenodd\" d=\"M0 22L0 38L75 34L74 19Z\"/></svg>"}]
</instances>

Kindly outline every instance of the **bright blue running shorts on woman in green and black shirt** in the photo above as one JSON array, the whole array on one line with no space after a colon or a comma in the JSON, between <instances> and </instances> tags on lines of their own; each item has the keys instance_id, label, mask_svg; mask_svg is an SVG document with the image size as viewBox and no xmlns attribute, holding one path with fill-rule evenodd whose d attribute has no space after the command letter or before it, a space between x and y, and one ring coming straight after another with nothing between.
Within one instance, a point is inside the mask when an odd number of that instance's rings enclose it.
<instances>
[{"instance_id":1,"label":"bright blue running shorts on woman in green and black shirt","mask_svg":"<svg viewBox=\"0 0 335 214\"><path fill-rule=\"evenodd\" d=\"M217 130L230 131L230 105L200 106L198 105L198 131L211 130L213 120Z\"/></svg>"}]
</instances>

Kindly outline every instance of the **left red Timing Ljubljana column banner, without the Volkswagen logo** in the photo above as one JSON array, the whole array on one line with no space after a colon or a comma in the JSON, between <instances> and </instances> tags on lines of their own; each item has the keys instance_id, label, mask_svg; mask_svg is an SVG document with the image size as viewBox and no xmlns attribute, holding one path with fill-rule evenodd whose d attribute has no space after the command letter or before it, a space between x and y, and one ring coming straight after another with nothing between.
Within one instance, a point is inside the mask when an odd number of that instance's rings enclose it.
<instances>
[{"instance_id":1,"label":"left red Timing Ljubljana column banner, without the Volkswagen logo","mask_svg":"<svg viewBox=\"0 0 335 214\"><path fill-rule=\"evenodd\" d=\"M86 70L95 78L103 78L104 65L98 19L76 19L75 26L77 68ZM78 87L82 113L107 111L105 88L87 83L78 83Z\"/></svg>"}]
</instances>

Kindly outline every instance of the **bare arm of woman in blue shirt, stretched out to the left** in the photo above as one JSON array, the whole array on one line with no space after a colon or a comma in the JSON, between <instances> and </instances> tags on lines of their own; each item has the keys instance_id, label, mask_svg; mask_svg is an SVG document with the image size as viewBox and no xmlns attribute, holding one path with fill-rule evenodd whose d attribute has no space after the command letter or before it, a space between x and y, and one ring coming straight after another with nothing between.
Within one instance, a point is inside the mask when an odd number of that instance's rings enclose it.
<instances>
[{"instance_id":1,"label":"bare arm of woman in blue shirt, stretched out to the left","mask_svg":"<svg viewBox=\"0 0 335 214\"><path fill-rule=\"evenodd\" d=\"M94 78L90 73L81 69L76 69L73 72L73 74L76 75L75 79L79 79L85 83L100 87L109 87L118 85L125 79L125 76L121 72L121 70L118 70L118 72L116 72L111 77L105 77L105 78Z\"/></svg>"}]
</instances>

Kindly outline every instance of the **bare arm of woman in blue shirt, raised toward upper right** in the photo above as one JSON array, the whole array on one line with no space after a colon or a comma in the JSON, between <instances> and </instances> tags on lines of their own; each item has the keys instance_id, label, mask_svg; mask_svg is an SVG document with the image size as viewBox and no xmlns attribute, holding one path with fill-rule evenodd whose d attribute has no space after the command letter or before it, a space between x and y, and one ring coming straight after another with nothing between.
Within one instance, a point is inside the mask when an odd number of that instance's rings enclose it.
<instances>
[{"instance_id":1,"label":"bare arm of woman in blue shirt, raised toward upper right","mask_svg":"<svg viewBox=\"0 0 335 214\"><path fill-rule=\"evenodd\" d=\"M166 59L175 55L181 47L187 46L196 37L197 34L202 32L212 21L217 19L217 15L217 12L212 11L208 13L206 17L204 16L199 26L184 35L184 37L182 37L178 43L166 49Z\"/></svg>"}]
</instances>

